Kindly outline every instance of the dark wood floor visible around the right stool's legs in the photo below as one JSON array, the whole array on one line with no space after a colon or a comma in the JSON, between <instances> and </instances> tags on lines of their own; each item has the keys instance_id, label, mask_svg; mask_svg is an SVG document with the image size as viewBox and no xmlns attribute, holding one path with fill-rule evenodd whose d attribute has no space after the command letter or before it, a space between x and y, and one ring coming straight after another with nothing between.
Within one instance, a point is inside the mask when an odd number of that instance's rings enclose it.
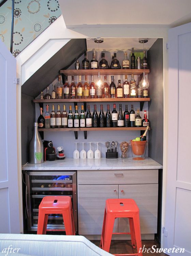
<instances>
[{"instance_id":1,"label":"dark wood floor visible around the right stool's legs","mask_svg":"<svg viewBox=\"0 0 191 256\"><path fill-rule=\"evenodd\" d=\"M100 241L98 240L91 240L92 243L95 245L99 246ZM145 245L144 248L152 249L153 245L156 245L156 247L153 247L155 249L159 248L158 243L155 240L142 240L142 247ZM152 250L153 251L153 250ZM111 242L111 247L109 253L111 254L125 254L125 253L137 253L136 249L133 249L131 246L131 241L130 240L112 240ZM164 256L166 254L164 253L151 253L151 252L143 252L143 255L148 255L148 256Z\"/></svg>"}]
</instances>

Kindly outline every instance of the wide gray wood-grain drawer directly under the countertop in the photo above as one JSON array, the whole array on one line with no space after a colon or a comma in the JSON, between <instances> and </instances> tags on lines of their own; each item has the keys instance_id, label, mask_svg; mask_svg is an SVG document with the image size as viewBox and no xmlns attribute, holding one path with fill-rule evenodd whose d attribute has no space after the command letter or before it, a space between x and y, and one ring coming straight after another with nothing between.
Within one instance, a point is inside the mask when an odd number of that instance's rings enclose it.
<instances>
[{"instance_id":1,"label":"wide gray wood-grain drawer directly under the countertop","mask_svg":"<svg viewBox=\"0 0 191 256\"><path fill-rule=\"evenodd\" d=\"M77 171L79 184L157 184L158 169Z\"/></svg>"}]
</instances>

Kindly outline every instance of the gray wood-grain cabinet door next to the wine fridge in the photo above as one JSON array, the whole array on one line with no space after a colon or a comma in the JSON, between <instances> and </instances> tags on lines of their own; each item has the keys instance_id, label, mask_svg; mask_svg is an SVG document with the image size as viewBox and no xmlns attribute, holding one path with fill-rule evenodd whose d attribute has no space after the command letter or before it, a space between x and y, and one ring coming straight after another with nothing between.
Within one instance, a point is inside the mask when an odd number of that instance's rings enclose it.
<instances>
[{"instance_id":1,"label":"gray wood-grain cabinet door next to the wine fridge","mask_svg":"<svg viewBox=\"0 0 191 256\"><path fill-rule=\"evenodd\" d=\"M79 235L101 235L108 198L118 198L118 185L78 185ZM117 219L113 232L118 232Z\"/></svg>"}]
</instances>

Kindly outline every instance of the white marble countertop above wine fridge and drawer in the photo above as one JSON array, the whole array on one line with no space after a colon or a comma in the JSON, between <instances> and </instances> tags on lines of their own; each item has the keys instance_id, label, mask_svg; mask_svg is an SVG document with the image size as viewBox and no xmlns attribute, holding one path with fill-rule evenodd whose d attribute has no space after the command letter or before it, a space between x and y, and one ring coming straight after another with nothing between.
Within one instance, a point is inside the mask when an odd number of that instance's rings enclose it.
<instances>
[{"instance_id":1,"label":"white marble countertop above wine fridge and drawer","mask_svg":"<svg viewBox=\"0 0 191 256\"><path fill-rule=\"evenodd\" d=\"M73 171L73 170L139 170L139 169L162 169L162 165L145 158L144 160L133 160L132 157L122 159L73 159L46 161L39 164L27 163L22 170L33 171Z\"/></svg>"}]
</instances>

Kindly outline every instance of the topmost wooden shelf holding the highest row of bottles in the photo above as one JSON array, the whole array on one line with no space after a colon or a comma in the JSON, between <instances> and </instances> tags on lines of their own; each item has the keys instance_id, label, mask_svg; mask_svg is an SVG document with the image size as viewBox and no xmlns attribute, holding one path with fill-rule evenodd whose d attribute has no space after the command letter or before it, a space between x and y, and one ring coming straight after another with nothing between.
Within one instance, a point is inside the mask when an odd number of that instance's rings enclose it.
<instances>
[{"instance_id":1,"label":"topmost wooden shelf holding the highest row of bottles","mask_svg":"<svg viewBox=\"0 0 191 256\"><path fill-rule=\"evenodd\" d=\"M143 69L66 69L60 70L60 73L64 75L98 75L100 72L101 75L141 75L144 70ZM145 74L149 73L149 69L145 69Z\"/></svg>"}]
</instances>

